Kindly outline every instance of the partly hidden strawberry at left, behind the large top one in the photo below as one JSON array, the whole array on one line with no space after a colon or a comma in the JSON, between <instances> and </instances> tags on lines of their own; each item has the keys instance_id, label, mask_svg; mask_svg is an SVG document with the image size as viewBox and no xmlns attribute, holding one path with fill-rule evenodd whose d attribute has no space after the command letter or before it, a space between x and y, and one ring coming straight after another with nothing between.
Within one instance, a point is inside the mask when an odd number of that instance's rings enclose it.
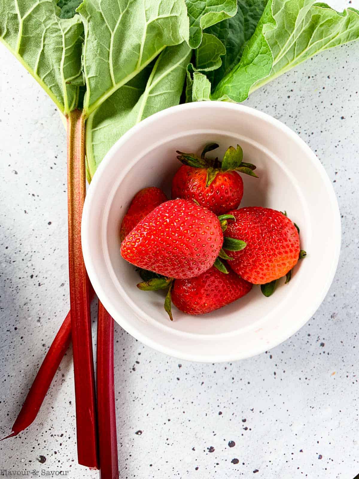
<instances>
[{"instance_id":1,"label":"partly hidden strawberry at left, behind the large top one","mask_svg":"<svg viewBox=\"0 0 359 479\"><path fill-rule=\"evenodd\" d=\"M122 220L120 230L121 241L135 228L141 219L165 201L167 201L166 195L156 186L144 188L136 193Z\"/></svg>"}]
</instances>

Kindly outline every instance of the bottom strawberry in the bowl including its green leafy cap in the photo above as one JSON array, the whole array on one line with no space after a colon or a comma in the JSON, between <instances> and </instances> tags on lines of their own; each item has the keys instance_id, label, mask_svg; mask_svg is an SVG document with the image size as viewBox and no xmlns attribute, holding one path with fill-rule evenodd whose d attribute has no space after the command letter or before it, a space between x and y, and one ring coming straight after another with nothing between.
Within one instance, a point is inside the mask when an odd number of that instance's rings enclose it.
<instances>
[{"instance_id":1,"label":"bottom strawberry in the bowl including its green leafy cap","mask_svg":"<svg viewBox=\"0 0 359 479\"><path fill-rule=\"evenodd\" d=\"M145 273L145 274L144 274ZM167 289L165 310L172 320L171 302L186 314L206 314L233 303L249 293L252 284L230 271L223 274L214 266L194 278L175 279L140 272L146 280L137 287L143 291Z\"/></svg>"}]
</instances>

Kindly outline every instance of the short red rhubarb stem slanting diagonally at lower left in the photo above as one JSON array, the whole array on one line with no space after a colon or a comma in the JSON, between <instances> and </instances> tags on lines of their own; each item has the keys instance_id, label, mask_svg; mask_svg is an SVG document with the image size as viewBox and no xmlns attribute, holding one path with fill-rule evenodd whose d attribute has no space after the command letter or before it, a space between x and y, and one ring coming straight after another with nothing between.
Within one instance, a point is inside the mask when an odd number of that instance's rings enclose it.
<instances>
[{"instance_id":1,"label":"short red rhubarb stem slanting diagonally at lower left","mask_svg":"<svg viewBox=\"0 0 359 479\"><path fill-rule=\"evenodd\" d=\"M45 359L38 370L34 382L26 396L21 411L11 428L11 434L4 437L16 436L24 429L30 426L37 416L43 403L47 390L50 387L58 366L61 363L64 354L71 342L71 316L68 312L67 317L60 326L54 341L52 342Z\"/></svg>"}]
</instances>

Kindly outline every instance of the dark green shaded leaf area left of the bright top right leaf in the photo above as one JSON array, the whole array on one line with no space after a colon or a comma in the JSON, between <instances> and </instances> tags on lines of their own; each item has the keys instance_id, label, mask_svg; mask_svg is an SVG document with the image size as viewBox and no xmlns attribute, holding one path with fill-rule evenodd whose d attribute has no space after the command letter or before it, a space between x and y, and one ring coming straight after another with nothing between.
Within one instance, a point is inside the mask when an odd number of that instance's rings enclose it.
<instances>
[{"instance_id":1,"label":"dark green shaded leaf area left of the bright top right leaf","mask_svg":"<svg viewBox=\"0 0 359 479\"><path fill-rule=\"evenodd\" d=\"M214 90L218 82L229 73L242 57L243 49L253 35L267 0L238 0L238 10L234 17L216 23L206 30L222 42L226 54L221 57L219 68L206 72ZM196 65L198 68L198 65Z\"/></svg>"}]
</instances>

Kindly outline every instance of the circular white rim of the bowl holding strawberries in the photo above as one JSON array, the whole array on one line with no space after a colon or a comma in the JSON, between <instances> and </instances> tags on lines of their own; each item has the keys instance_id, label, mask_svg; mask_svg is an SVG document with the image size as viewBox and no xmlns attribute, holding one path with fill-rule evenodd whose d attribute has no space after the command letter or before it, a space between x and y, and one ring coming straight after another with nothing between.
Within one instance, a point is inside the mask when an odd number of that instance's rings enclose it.
<instances>
[{"instance_id":1,"label":"circular white rim of the bowl holding strawberries","mask_svg":"<svg viewBox=\"0 0 359 479\"><path fill-rule=\"evenodd\" d=\"M202 108L206 109L206 108L213 108L213 107L227 109L228 111L230 110L241 111L244 114L246 113L251 114L255 117L261 118L262 120L280 129L287 137L291 137L294 142L296 142L306 151L314 167L317 169L318 173L320 174L323 182L325 183L328 198L330 199L330 204L329 204L330 208L333 211L333 223L334 223L333 229L335 232L335 237L331 238L331 242L333 245L333 256L331 259L332 260L331 269L326 276L325 284L322 284L321 294L318 294L316 301L313 301L312 308L308 310L307 314L303 315L305 316L304 319L300 323L296 322L294 327L289 328L285 331L282 331L281 333L278 333L277 340L271 341L268 344L267 349L272 349L273 347L276 347L282 342L289 339L295 332L299 331L299 329L301 329L303 325L314 315L315 311L319 308L319 306L323 302L330 288L330 285L333 282L333 279L337 270L337 264L339 261L340 247L341 247L341 220L340 220L339 206L338 206L337 197L336 197L333 185L330 182L330 179L325 171L325 168L320 162L320 160L317 158L317 156L314 154L313 150L305 143L305 141L301 137L299 137L299 135L295 133L289 126L280 122L280 120L277 120L271 115L264 113L262 111L259 111L255 108L242 105L239 103L210 101L210 102L184 103L184 104L172 106L170 108L167 108L165 110L162 110L160 112L157 112L156 114L149 116L148 118L142 120L137 125L134 125L132 128L130 128L121 138L119 138L116 141L116 143L114 143L114 145L106 153L105 157L103 158L99 167L97 168L87 191L85 204L84 204L84 208L82 212L82 220L81 220L81 245L82 245L82 252L83 252L83 258L84 258L86 270L89 275L90 282L97 296L99 297L99 300L103 304L103 306L112 315L112 317L116 317L115 321L125 331L127 331L129 334L135 337L135 339L137 339L138 341L146 344L147 346L161 353L168 354L169 356L176 357L182 360L205 362L205 363L236 361L239 359L252 357L257 354L263 353L263 347L260 347L260 345L258 344L258 348L257 349L253 348L253 351L250 355L240 354L240 352L229 353L227 355L221 354L217 356L216 354L211 354L211 355L196 354L195 352L190 354L184 354L183 352L178 352L173 347L168 347L167 345L161 342L157 342L148 338L145 334L142 334L140 328L137 328L134 325L134 323L131 322L131 319L123 318L123 316L121 316L121 319L119 319L118 314L116 314L117 311L115 308L112 307L112 301L108 298L106 292L102 288L100 278L97 276L95 272L95 268L92 264L88 232L90 230L89 223L90 223L90 217L91 217L92 204L94 201L96 201L97 187L101 182L101 178L102 178L102 175L104 174L104 171L106 170L107 164L112 160L112 157L116 155L116 153L122 147L122 145L125 142L127 142L129 138L137 135L142 129L147 128L148 126L156 123L157 120L160 120L161 118L166 118L167 116L171 116L183 110L191 110L191 109L197 110Z\"/></svg>"}]
</instances>

